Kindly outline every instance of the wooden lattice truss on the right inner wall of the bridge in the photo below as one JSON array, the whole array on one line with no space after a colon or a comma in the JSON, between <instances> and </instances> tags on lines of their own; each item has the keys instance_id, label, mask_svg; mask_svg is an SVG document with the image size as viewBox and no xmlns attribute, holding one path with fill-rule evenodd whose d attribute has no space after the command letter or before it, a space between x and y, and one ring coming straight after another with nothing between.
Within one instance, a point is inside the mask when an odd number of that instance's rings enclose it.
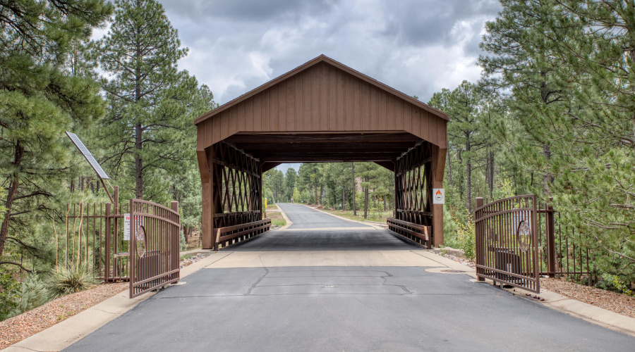
<instances>
[{"instance_id":1,"label":"wooden lattice truss on the right inner wall of the bridge","mask_svg":"<svg viewBox=\"0 0 635 352\"><path fill-rule=\"evenodd\" d=\"M423 142L397 159L395 172L396 214L399 220L432 225L432 153Z\"/></svg>"}]
</instances>

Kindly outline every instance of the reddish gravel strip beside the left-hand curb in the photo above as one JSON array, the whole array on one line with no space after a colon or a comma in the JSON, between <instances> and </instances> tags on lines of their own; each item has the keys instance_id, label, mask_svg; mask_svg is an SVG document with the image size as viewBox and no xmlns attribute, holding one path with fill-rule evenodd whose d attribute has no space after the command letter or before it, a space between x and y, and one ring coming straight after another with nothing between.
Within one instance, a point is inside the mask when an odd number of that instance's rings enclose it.
<instances>
[{"instance_id":1,"label":"reddish gravel strip beside the left-hand curb","mask_svg":"<svg viewBox=\"0 0 635 352\"><path fill-rule=\"evenodd\" d=\"M0 322L0 350L95 306L127 287L127 282L100 284L86 291L56 298L44 306L8 318Z\"/></svg>"}]
</instances>

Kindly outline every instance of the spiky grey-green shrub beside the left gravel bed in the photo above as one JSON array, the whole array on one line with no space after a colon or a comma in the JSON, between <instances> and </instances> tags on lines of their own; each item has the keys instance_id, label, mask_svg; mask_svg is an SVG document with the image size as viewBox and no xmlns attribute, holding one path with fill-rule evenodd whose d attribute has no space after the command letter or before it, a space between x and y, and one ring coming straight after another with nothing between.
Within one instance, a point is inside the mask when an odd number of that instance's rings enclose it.
<instances>
[{"instance_id":1,"label":"spiky grey-green shrub beside the left gravel bed","mask_svg":"<svg viewBox=\"0 0 635 352\"><path fill-rule=\"evenodd\" d=\"M49 298L57 298L67 294L90 289L97 284L92 272L85 268L64 268L57 266L45 279L44 284L49 291Z\"/></svg>"}]
</instances>

